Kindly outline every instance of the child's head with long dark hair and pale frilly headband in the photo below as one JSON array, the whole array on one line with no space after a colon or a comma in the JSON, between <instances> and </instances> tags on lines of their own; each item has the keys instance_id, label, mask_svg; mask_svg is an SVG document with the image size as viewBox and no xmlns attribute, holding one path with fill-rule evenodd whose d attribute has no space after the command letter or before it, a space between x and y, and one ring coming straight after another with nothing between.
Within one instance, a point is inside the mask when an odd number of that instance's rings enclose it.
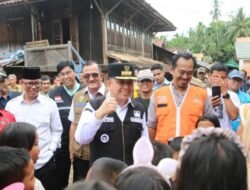
<instances>
[{"instance_id":1,"label":"child's head with long dark hair and pale frilly headband","mask_svg":"<svg viewBox=\"0 0 250 190\"><path fill-rule=\"evenodd\" d=\"M246 190L245 156L231 129L199 128L183 139L176 190Z\"/></svg>"}]
</instances>

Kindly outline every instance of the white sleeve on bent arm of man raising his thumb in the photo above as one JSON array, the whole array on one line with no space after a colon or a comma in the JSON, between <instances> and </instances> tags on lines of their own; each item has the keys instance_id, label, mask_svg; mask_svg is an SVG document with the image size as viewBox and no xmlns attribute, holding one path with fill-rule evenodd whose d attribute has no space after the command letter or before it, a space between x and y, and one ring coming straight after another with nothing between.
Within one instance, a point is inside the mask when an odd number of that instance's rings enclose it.
<instances>
[{"instance_id":1,"label":"white sleeve on bent arm of man raising his thumb","mask_svg":"<svg viewBox=\"0 0 250 190\"><path fill-rule=\"evenodd\" d=\"M101 127L102 120L97 120L95 110L90 103L84 108L75 132L75 139L79 144L89 144Z\"/></svg>"}]
</instances>

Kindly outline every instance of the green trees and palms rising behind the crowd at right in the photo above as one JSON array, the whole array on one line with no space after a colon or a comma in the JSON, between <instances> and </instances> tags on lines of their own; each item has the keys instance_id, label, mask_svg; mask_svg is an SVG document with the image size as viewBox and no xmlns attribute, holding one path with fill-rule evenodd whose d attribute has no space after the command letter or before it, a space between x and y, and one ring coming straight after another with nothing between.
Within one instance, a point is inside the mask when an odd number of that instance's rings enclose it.
<instances>
[{"instance_id":1,"label":"green trees and palms rising behind the crowd at right","mask_svg":"<svg viewBox=\"0 0 250 190\"><path fill-rule=\"evenodd\" d=\"M235 59L235 39L250 37L250 18L240 8L230 21L221 21L217 5L219 2L215 0L211 12L213 21L208 26L200 22L195 28L190 28L188 35L176 34L175 38L166 39L166 48L187 48L192 53L203 53L211 62Z\"/></svg>"}]
</instances>

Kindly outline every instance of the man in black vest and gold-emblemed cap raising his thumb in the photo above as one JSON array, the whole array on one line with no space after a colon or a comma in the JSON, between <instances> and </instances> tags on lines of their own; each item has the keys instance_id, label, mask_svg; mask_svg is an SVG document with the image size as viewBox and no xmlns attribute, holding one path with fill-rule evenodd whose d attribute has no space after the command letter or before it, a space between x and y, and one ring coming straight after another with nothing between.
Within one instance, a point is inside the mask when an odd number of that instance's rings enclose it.
<instances>
[{"instance_id":1,"label":"man in black vest and gold-emblemed cap raising his thumb","mask_svg":"<svg viewBox=\"0 0 250 190\"><path fill-rule=\"evenodd\" d=\"M134 144L148 136L143 105L131 100L134 67L131 64L110 64L107 87L110 94L90 101L81 115L75 138L89 144L90 163L110 157L133 163Z\"/></svg>"}]
</instances>

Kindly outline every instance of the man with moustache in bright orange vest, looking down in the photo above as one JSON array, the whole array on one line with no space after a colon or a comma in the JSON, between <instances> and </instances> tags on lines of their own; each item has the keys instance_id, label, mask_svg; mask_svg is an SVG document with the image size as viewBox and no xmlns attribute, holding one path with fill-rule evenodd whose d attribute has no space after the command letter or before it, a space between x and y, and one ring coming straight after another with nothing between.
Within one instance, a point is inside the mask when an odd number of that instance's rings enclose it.
<instances>
[{"instance_id":1,"label":"man with moustache in bright orange vest, looking down","mask_svg":"<svg viewBox=\"0 0 250 190\"><path fill-rule=\"evenodd\" d=\"M174 137L188 135L195 129L200 116L213 113L211 97L206 90L190 85L195 66L196 60L189 53L173 57L173 82L154 91L150 100L148 127L151 139L166 143Z\"/></svg>"}]
</instances>

